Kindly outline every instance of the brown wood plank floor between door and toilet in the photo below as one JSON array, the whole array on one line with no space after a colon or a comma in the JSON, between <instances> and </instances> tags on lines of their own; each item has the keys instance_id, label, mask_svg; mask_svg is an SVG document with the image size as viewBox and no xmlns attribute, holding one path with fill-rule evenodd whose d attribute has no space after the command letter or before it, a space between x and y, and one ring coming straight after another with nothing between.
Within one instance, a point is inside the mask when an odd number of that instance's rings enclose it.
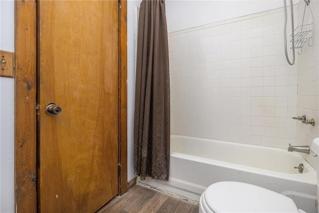
<instances>
[{"instance_id":1,"label":"brown wood plank floor between door and toilet","mask_svg":"<svg viewBox=\"0 0 319 213\"><path fill-rule=\"evenodd\" d=\"M198 213L198 206L136 185L97 213Z\"/></svg>"}]
</instances>

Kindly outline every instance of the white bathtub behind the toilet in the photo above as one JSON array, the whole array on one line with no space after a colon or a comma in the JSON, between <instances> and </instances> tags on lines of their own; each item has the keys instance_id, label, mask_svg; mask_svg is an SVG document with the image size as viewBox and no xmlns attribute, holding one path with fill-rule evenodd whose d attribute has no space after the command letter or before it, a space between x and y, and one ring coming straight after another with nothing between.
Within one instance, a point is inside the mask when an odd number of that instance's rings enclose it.
<instances>
[{"instance_id":1,"label":"white bathtub behind the toilet","mask_svg":"<svg viewBox=\"0 0 319 213\"><path fill-rule=\"evenodd\" d=\"M299 154L286 149L171 136L169 181L138 181L193 202L211 184L254 184L294 200L307 213L317 211L317 173ZM304 164L300 174L295 166Z\"/></svg>"}]
</instances>

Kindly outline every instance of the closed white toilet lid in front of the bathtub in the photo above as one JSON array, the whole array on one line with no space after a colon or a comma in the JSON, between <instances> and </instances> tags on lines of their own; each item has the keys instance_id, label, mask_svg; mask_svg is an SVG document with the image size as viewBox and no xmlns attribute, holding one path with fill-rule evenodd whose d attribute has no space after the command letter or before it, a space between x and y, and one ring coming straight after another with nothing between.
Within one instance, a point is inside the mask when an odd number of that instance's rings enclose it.
<instances>
[{"instance_id":1,"label":"closed white toilet lid in front of the bathtub","mask_svg":"<svg viewBox=\"0 0 319 213\"><path fill-rule=\"evenodd\" d=\"M218 182L205 191L205 201L215 213L298 213L292 199L279 193L239 182Z\"/></svg>"}]
</instances>

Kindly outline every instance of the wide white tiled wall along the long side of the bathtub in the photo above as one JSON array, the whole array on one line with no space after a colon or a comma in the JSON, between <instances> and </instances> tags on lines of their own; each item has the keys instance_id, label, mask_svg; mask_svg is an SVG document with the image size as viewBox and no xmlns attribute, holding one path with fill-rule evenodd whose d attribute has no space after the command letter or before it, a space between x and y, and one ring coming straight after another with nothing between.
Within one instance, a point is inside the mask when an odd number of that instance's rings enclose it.
<instances>
[{"instance_id":1,"label":"wide white tiled wall along the long side of the bathtub","mask_svg":"<svg viewBox=\"0 0 319 213\"><path fill-rule=\"evenodd\" d=\"M298 65L283 27L279 8L169 33L171 134L296 144Z\"/></svg>"}]
</instances>

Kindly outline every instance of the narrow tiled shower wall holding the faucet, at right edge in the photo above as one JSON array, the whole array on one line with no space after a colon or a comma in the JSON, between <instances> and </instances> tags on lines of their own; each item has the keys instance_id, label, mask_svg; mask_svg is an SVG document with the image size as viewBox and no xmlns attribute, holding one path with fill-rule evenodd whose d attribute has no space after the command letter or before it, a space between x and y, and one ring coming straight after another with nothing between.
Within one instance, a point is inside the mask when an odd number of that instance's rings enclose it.
<instances>
[{"instance_id":1,"label":"narrow tiled shower wall holding the faucet, at right edge","mask_svg":"<svg viewBox=\"0 0 319 213\"><path fill-rule=\"evenodd\" d=\"M298 115L306 115L307 119L314 118L317 121L315 127L301 122L297 124L297 142L309 146L314 138L319 137L319 1L312 0L310 8L313 11L314 20L309 7L306 7L304 23L314 22L313 27L310 28L314 29L314 37L310 42L312 46L306 44L299 56L297 109ZM305 3L301 1L297 9L298 17L303 17ZM298 19L298 24L302 24L302 18ZM305 155L305 157L311 163L317 160L312 155Z\"/></svg>"}]
</instances>

